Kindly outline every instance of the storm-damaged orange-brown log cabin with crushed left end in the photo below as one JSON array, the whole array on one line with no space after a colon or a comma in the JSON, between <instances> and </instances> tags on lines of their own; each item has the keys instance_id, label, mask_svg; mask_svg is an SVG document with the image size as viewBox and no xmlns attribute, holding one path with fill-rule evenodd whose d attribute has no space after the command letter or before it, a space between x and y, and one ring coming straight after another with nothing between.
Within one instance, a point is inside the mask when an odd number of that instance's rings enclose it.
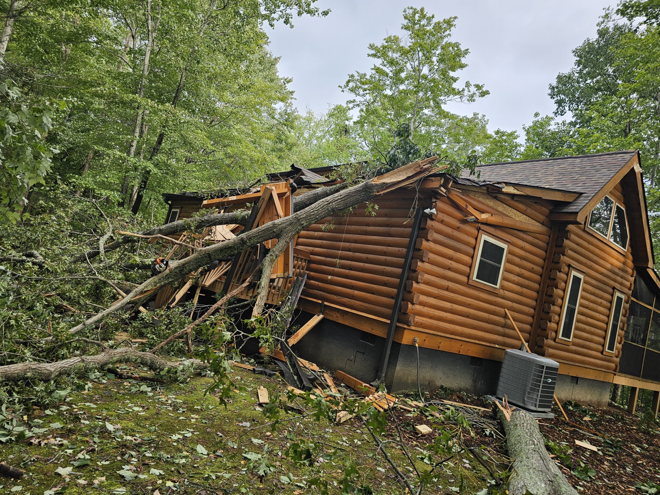
<instances>
[{"instance_id":1,"label":"storm-damaged orange-brown log cabin with crushed left end","mask_svg":"<svg viewBox=\"0 0 660 495\"><path fill-rule=\"evenodd\" d=\"M330 170L292 166L232 194L166 194L167 220L251 207L263 224L333 183ZM419 374L424 387L493 393L521 334L559 362L560 399L607 405L618 383L633 387L630 409L640 388L653 390L657 414L660 281L637 151L433 174L375 203L310 226L273 269L272 304L306 273L290 339L299 356L394 391ZM156 306L240 284L269 247L218 262L196 290L161 290Z\"/></svg>"}]
</instances>

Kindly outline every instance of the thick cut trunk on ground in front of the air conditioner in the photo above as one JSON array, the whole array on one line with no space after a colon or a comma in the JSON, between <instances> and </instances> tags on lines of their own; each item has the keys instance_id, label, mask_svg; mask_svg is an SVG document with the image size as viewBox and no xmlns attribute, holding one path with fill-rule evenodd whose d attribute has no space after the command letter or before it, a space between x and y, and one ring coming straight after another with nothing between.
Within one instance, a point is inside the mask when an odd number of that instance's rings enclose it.
<instances>
[{"instance_id":1,"label":"thick cut trunk on ground in front of the air conditioner","mask_svg":"<svg viewBox=\"0 0 660 495\"><path fill-rule=\"evenodd\" d=\"M508 421L502 411L506 445L513 461L510 495L578 495L545 449L539 425L531 414L513 411Z\"/></svg>"}]
</instances>

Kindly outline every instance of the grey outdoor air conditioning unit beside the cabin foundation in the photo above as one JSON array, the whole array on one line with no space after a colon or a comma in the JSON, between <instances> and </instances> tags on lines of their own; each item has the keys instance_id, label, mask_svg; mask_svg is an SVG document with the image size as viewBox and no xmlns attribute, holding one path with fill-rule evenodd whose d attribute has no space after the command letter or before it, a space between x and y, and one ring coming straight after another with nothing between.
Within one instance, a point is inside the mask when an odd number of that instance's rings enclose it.
<instances>
[{"instance_id":1,"label":"grey outdoor air conditioning unit beside the cabin foundation","mask_svg":"<svg viewBox=\"0 0 660 495\"><path fill-rule=\"evenodd\" d=\"M559 363L517 349L504 351L497 396L530 411L549 412Z\"/></svg>"}]
</instances>

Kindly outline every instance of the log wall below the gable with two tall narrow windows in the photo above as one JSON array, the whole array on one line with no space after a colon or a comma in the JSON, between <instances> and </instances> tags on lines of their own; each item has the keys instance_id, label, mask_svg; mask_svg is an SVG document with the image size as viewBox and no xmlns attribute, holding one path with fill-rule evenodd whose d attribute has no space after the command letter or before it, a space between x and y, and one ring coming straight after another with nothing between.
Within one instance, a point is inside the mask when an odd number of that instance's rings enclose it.
<instances>
[{"instance_id":1,"label":"log wall below the gable with two tall narrow windows","mask_svg":"<svg viewBox=\"0 0 660 495\"><path fill-rule=\"evenodd\" d=\"M624 204L620 186L610 195ZM615 372L634 281L630 248L624 253L583 225L567 225L560 230L554 251L548 290L544 297L541 325L535 352L576 364ZM564 302L569 269L584 275L573 341L557 341L561 308ZM603 354L614 289L625 296L614 356Z\"/></svg>"}]
</instances>

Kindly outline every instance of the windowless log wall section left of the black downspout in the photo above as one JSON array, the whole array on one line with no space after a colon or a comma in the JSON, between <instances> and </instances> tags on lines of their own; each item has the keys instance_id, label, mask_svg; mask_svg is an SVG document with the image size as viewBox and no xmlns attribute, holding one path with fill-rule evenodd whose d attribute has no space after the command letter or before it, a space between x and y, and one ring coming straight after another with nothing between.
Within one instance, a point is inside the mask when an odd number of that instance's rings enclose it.
<instances>
[{"instance_id":1,"label":"windowless log wall section left of the black downspout","mask_svg":"<svg viewBox=\"0 0 660 495\"><path fill-rule=\"evenodd\" d=\"M393 191L376 204L375 216L362 204L348 215L325 218L300 232L296 246L312 255L304 296L391 317L413 227L414 193ZM418 244L428 236L428 230L420 232ZM428 259L428 251L417 247L414 259ZM419 298L420 294L407 292L404 301L416 304ZM399 321L409 324L413 318L404 314Z\"/></svg>"}]
</instances>

